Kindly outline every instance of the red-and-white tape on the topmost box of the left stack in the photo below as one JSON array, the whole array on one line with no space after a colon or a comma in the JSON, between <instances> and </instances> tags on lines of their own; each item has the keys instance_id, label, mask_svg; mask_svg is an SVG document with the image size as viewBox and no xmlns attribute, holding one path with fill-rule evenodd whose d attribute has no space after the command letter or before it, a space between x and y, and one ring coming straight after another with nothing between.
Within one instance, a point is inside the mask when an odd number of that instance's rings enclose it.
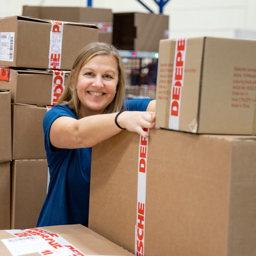
<instances>
[{"instance_id":1,"label":"red-and-white tape on the topmost box of the left stack","mask_svg":"<svg viewBox=\"0 0 256 256\"><path fill-rule=\"evenodd\" d=\"M60 69L63 24L61 21L51 20L51 22L52 28L50 32L49 68Z\"/></svg>"}]
</instances>

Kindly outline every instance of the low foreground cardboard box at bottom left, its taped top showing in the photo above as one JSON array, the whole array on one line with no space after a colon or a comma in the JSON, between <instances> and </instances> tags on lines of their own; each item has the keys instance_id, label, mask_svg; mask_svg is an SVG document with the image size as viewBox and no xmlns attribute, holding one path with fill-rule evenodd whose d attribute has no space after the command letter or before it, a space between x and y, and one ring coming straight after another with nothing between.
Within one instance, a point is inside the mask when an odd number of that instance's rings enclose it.
<instances>
[{"instance_id":1,"label":"low foreground cardboard box at bottom left, its taped top showing","mask_svg":"<svg viewBox=\"0 0 256 256\"><path fill-rule=\"evenodd\" d=\"M41 237L35 238L35 235ZM22 239L22 237L24 239ZM44 237L44 238L43 238ZM53 252L56 255L122 255L122 256L132 256L133 254L127 252L120 246L113 244L106 238L100 236L99 234L93 232L89 228L77 225L60 225L42 228L28 228L25 230L0 230L0 253L5 256L12 256L13 254L7 249L4 243L8 245L12 243L13 239L6 240L10 238L16 238L16 245L20 245L22 252L30 253L24 255L48 255ZM20 238L17 240L17 238ZM34 247L24 246L24 241L29 238L34 238L34 240L40 241L34 243ZM3 240L4 239L4 240ZM48 243L47 243L48 242ZM17 246L18 247L18 246ZM12 247L13 248L13 247ZM18 247L19 248L19 247ZM34 251L32 249L35 249ZM43 249L43 250L40 250ZM44 254L42 252L44 251ZM34 252L34 253L33 253ZM59 252L59 253L58 253ZM54 253L54 254L55 254ZM23 255L23 254L22 254Z\"/></svg>"}]
</instances>

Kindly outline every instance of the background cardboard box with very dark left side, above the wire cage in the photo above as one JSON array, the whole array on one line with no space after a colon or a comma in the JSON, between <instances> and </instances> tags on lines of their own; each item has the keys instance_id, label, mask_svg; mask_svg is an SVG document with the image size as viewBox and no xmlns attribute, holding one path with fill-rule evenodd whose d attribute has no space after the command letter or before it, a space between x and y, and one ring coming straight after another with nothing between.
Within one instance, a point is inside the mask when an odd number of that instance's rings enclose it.
<instances>
[{"instance_id":1,"label":"background cardboard box with very dark left side, above the wire cage","mask_svg":"<svg viewBox=\"0 0 256 256\"><path fill-rule=\"evenodd\" d=\"M169 16L139 12L114 13L113 44L121 50L158 52L168 38Z\"/></svg>"}]
</instances>

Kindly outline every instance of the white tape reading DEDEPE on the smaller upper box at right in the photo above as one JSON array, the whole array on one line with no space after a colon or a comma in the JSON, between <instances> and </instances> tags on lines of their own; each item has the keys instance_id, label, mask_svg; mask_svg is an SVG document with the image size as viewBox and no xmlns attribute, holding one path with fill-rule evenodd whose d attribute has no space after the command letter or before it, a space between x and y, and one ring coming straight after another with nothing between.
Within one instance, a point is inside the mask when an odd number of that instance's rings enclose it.
<instances>
[{"instance_id":1,"label":"white tape reading DEDEPE on the smaller upper box at right","mask_svg":"<svg viewBox=\"0 0 256 256\"><path fill-rule=\"evenodd\" d=\"M181 91L185 75L186 38L176 40L170 101L169 129L179 130Z\"/></svg>"}]
</instances>

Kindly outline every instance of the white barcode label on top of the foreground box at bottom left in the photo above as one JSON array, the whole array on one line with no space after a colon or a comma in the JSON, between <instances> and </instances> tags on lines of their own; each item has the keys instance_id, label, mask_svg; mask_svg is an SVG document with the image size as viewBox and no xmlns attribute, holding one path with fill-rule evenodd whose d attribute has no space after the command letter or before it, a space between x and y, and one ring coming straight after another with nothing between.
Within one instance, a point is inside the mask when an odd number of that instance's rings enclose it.
<instances>
[{"instance_id":1,"label":"white barcode label on top of the foreground box at bottom left","mask_svg":"<svg viewBox=\"0 0 256 256\"><path fill-rule=\"evenodd\" d=\"M19 256L34 252L43 252L51 250L52 246L48 244L41 236L26 236L1 239L12 256Z\"/></svg>"}]
</instances>

